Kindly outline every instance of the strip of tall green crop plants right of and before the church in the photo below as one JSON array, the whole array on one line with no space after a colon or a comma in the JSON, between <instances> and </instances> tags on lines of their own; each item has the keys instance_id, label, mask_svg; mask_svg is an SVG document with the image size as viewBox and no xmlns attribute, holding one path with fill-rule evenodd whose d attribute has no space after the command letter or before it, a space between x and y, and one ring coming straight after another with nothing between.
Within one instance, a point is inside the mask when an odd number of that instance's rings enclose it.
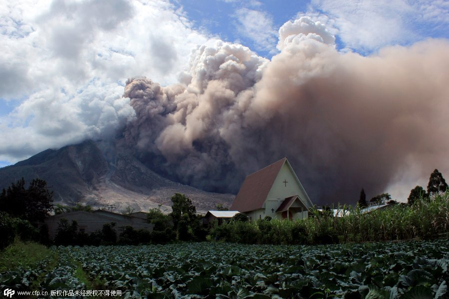
<instances>
[{"instance_id":1,"label":"strip of tall green crop plants right of and before the church","mask_svg":"<svg viewBox=\"0 0 449 299\"><path fill-rule=\"evenodd\" d=\"M449 232L449 192L413 205L363 211L359 206L340 207L343 217L311 210L298 221L236 219L211 229L211 239L250 244L331 244L435 238Z\"/></svg>"}]
</instances>

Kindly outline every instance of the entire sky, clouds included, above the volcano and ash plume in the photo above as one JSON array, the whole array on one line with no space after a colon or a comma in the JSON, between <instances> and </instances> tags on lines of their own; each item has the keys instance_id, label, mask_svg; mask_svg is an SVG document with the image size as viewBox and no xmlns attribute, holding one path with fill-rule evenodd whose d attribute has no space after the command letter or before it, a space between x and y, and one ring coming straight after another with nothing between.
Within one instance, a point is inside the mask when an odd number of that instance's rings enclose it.
<instances>
[{"instance_id":1,"label":"entire sky, clouds included, above the volcano and ash plume","mask_svg":"<svg viewBox=\"0 0 449 299\"><path fill-rule=\"evenodd\" d=\"M449 38L445 0L12 0L0 3L0 166L112 134L133 117L128 78L162 85L217 39L271 59L278 30L307 15L341 52Z\"/></svg>"}]
</instances>

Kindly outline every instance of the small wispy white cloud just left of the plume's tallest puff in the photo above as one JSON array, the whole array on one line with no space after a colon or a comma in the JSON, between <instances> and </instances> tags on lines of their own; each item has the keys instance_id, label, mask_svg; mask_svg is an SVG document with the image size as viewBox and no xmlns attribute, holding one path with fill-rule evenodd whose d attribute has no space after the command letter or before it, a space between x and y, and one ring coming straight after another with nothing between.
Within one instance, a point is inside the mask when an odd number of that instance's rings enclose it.
<instances>
[{"instance_id":1,"label":"small wispy white cloud just left of the plume's tallest puff","mask_svg":"<svg viewBox=\"0 0 449 299\"><path fill-rule=\"evenodd\" d=\"M267 12L240 8L236 11L236 17L240 34L253 40L257 49L275 52L277 32Z\"/></svg>"}]
</instances>

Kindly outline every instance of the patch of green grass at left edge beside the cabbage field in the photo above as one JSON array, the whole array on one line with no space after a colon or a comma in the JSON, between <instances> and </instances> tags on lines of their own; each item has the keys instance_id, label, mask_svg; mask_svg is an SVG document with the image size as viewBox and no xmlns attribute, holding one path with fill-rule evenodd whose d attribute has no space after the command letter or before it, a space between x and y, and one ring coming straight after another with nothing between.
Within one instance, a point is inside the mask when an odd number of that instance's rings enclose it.
<instances>
[{"instance_id":1,"label":"patch of green grass at left edge beside the cabbage field","mask_svg":"<svg viewBox=\"0 0 449 299\"><path fill-rule=\"evenodd\" d=\"M19 267L30 268L52 254L53 252L44 245L24 243L16 239L0 252L0 272Z\"/></svg>"}]
</instances>

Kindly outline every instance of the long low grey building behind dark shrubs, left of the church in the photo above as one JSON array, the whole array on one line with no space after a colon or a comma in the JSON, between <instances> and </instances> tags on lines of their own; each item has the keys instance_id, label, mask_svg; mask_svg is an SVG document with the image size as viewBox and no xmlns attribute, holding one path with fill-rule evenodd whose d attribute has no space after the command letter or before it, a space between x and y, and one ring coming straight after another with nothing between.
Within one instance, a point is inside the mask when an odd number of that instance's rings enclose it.
<instances>
[{"instance_id":1,"label":"long low grey building behind dark shrubs, left of the church","mask_svg":"<svg viewBox=\"0 0 449 299\"><path fill-rule=\"evenodd\" d=\"M75 211L63 214L52 215L45 218L48 226L48 235L50 239L54 239L57 233L58 225L61 219L67 219L69 223L73 220L78 223L78 229L87 234L101 230L104 224L115 223L117 232L125 226L131 226L134 229L146 229L153 231L153 224L147 222L142 217L133 217L131 215L122 215L114 212L96 210L93 212Z\"/></svg>"}]
</instances>

